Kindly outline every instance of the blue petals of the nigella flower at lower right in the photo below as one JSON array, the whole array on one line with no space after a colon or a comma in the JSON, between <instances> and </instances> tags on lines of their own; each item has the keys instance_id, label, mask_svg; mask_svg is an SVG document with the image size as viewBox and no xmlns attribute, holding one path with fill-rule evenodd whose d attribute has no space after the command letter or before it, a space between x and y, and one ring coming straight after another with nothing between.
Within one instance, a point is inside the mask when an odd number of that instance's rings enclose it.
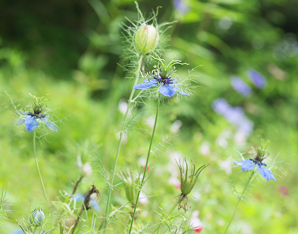
<instances>
[{"instance_id":1,"label":"blue petals of the nigella flower at lower right","mask_svg":"<svg viewBox=\"0 0 298 234\"><path fill-rule=\"evenodd\" d=\"M240 168L242 171L251 171L257 168L258 171L260 172L260 175L264 177L267 181L269 181L270 179L273 179L274 181L276 181L276 178L274 177L272 171L270 171L266 167L263 167L263 166L267 166L263 162L258 162L255 159L246 159L246 160L234 162L234 164L241 165Z\"/></svg>"}]
</instances>

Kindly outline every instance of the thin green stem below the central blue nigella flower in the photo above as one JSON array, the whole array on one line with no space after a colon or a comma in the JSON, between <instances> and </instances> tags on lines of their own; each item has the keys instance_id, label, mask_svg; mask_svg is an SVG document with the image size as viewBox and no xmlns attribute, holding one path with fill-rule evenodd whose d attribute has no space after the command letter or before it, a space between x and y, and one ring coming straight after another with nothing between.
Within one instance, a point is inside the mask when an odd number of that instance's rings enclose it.
<instances>
[{"instance_id":1,"label":"thin green stem below the central blue nigella flower","mask_svg":"<svg viewBox=\"0 0 298 234\"><path fill-rule=\"evenodd\" d=\"M150 153L151 153L151 147L152 147L153 138L154 138L154 134L155 134L155 128L156 128L156 124L157 124L157 117L158 117L158 113L159 113L159 105L160 105L160 97L158 97L157 108L156 108L156 115L155 115L155 121L154 121L154 126L153 126L153 130L152 130L151 140L150 140L150 144L149 144L149 149L148 149L148 154L147 154L147 160L146 160L146 166L145 166L143 178L142 178L142 181L141 181L141 184L140 184L139 192L138 192L138 195L137 195L136 204L135 204L135 208L134 208L134 214L132 216L131 226L130 226L130 229L129 229L129 234L131 234L132 229L133 229L133 224L134 224L134 220L135 220L135 215L136 215L136 210L137 210L137 206L138 206L138 201L139 201L140 193L142 191L142 187L143 187L144 181L145 181L145 176L146 176L146 172L147 172L149 157L150 157Z\"/></svg>"}]
</instances>

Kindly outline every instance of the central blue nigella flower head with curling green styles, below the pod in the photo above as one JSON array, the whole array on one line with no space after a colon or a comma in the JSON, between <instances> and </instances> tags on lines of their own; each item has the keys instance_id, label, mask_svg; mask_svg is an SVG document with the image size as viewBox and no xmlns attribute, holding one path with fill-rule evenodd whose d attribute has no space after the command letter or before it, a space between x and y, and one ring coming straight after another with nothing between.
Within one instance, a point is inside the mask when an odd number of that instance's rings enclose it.
<instances>
[{"instance_id":1,"label":"central blue nigella flower head with curling green styles, below the pod","mask_svg":"<svg viewBox=\"0 0 298 234\"><path fill-rule=\"evenodd\" d=\"M179 80L179 77L174 73L174 65L184 65L187 63L181 63L175 58L169 62L168 65L165 64L165 60L161 59L158 55L156 57L151 56L153 59L157 60L159 64L155 66L155 70L147 74L147 78L144 83L134 86L135 90L148 90L153 94L162 94L165 97L172 98L177 92L180 95L190 97L189 93L183 91L182 88L187 88L187 86ZM187 64L188 65L188 64ZM188 89L189 90L189 89ZM190 91L190 90L189 90ZM159 96L159 95L158 95Z\"/></svg>"}]
</instances>

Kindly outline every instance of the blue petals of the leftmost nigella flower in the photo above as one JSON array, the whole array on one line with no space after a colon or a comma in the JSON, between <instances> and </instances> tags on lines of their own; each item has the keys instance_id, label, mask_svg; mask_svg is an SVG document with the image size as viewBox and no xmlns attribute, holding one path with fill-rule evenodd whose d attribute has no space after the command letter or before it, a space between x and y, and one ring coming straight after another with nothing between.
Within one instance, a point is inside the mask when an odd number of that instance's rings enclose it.
<instances>
[{"instance_id":1,"label":"blue petals of the leftmost nigella flower","mask_svg":"<svg viewBox=\"0 0 298 234\"><path fill-rule=\"evenodd\" d=\"M33 114L31 112L22 113L21 118L23 119L18 122L15 122L15 124L19 125L19 124L25 123L25 127L27 131L33 131L36 127L38 127L39 125L38 119L40 119L41 121L45 122L46 125L52 131L58 132L58 129L55 126L55 124L51 120L48 120L48 116L42 115L41 113L40 114Z\"/></svg>"}]
</instances>

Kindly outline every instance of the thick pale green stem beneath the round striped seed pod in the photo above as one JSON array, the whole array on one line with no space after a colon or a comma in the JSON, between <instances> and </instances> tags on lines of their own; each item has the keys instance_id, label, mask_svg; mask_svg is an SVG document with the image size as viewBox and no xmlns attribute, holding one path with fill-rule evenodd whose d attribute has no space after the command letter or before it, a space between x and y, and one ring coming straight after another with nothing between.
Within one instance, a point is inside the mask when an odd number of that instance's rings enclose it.
<instances>
[{"instance_id":1,"label":"thick pale green stem beneath the round striped seed pod","mask_svg":"<svg viewBox=\"0 0 298 234\"><path fill-rule=\"evenodd\" d=\"M141 55L140 60L139 60L139 67L138 67L138 70L136 72L136 79L135 79L134 86L137 85L138 82L139 82L142 62L143 62L143 55ZM117 162L118 162L118 158L119 158L120 148L121 148L121 141L122 141L123 134L125 132L126 119L127 119L128 113L130 111L130 107L131 107L131 104L132 104L134 94L135 94L135 89L133 88L132 92L130 94L128 103L127 103L126 113L125 113L124 118L123 118L122 127L121 127L121 131L120 131L120 138L119 138L117 152L116 152L116 157L115 157L115 161L114 161L114 165L113 165L113 171L112 171L112 176L111 176L111 181L110 181L110 188L109 188L109 191L108 191L108 200L107 200L107 206L106 206L103 234L106 234L106 231L107 231L111 194L112 194L112 190L113 190L114 177L115 177Z\"/></svg>"}]
</instances>

